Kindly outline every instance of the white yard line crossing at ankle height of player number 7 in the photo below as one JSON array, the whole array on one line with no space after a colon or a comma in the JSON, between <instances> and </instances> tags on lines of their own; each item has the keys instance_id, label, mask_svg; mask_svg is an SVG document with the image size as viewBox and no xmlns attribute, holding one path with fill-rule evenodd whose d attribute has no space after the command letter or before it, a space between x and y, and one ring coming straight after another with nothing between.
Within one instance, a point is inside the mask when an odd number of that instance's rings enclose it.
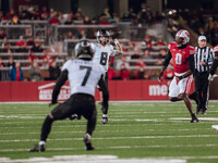
<instances>
[{"instance_id":1,"label":"white yard line crossing at ankle height of player number 7","mask_svg":"<svg viewBox=\"0 0 218 163\"><path fill-rule=\"evenodd\" d=\"M179 136L138 136L138 137L99 137L93 138L94 140L118 140L118 139L167 139L167 138L217 138L218 135L179 135ZM37 141L38 139L13 139L13 140L0 140L0 142L28 142ZM82 138L56 138L48 139L49 141L69 141L69 140L83 140Z\"/></svg>"}]
</instances>

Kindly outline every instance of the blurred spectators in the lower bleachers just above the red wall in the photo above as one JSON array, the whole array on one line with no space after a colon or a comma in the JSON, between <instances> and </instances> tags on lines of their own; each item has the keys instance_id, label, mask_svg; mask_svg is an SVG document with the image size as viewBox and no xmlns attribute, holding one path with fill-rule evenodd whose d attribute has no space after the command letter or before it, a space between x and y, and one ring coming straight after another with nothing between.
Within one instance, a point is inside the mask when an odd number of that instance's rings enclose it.
<instances>
[{"instance_id":1,"label":"blurred spectators in the lower bleachers just above the red wall","mask_svg":"<svg viewBox=\"0 0 218 163\"><path fill-rule=\"evenodd\" d=\"M57 55L59 49L56 49L55 45L44 47L39 38L34 39L29 37L27 41L25 41L23 36L21 36L15 47L15 49L11 49L11 43L8 39L4 39L0 51L0 53L8 54L0 57L0 67L11 68L11 80L26 79L22 77L22 72L19 73L17 71L21 70L21 67L29 67L28 80L47 80L57 79L59 77L61 64L57 62L59 59ZM153 76L156 77L157 74L150 74L150 70L146 70L146 66L161 65L167 55L167 42L162 38L155 39L149 35L145 35L144 40L137 42L137 45L132 41L125 43L121 42L121 47L124 54L120 58L111 58L110 60L108 72L109 79L150 79ZM26 53L26 57L19 57L19 59L22 59L21 61L26 62L16 62L16 64L14 58L11 55L13 53L17 57L19 53ZM36 55L36 53L39 53L40 57ZM4 62L2 62L2 59ZM5 59L8 59L7 62ZM48 70L50 76L44 78L40 70ZM15 73L19 73L20 77L14 77Z\"/></svg>"}]
</instances>

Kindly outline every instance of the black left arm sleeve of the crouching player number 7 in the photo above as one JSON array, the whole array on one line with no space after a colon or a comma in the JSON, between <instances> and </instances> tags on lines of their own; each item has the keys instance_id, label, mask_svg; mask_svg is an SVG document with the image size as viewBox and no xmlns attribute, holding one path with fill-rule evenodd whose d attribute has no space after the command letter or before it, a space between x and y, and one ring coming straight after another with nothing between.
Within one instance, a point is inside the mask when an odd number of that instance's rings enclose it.
<instances>
[{"instance_id":1,"label":"black left arm sleeve of the crouching player number 7","mask_svg":"<svg viewBox=\"0 0 218 163\"><path fill-rule=\"evenodd\" d=\"M61 87L64 85L64 83L68 80L68 71L64 70L61 74L61 76L59 77L58 82L56 83L56 86L53 87L53 91L52 91L52 103L57 103L58 100L58 95L60 92Z\"/></svg>"}]
</instances>

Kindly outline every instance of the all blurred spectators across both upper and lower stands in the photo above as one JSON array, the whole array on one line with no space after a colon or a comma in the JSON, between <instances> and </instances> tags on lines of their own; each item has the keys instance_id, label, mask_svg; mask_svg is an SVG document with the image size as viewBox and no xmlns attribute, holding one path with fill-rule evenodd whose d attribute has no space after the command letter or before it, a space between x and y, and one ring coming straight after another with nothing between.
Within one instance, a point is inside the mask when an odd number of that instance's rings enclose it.
<instances>
[{"instance_id":1,"label":"all blurred spectators across both upper and lower stands","mask_svg":"<svg viewBox=\"0 0 218 163\"><path fill-rule=\"evenodd\" d=\"M52 9L48 10L46 7L41 8L41 11L36 11L34 8L24 10L21 13L15 13L11 9L5 15L0 11L0 22L8 21L9 25L21 24L21 20L46 20L48 26L65 24L83 24L83 25L110 25L120 21L131 21L136 25L149 25L157 21L161 21L164 17L156 13L152 13L149 8L143 3L142 9L135 12L132 8L121 17L117 13L111 13L109 8L106 8L100 15L93 17L92 20L83 14L83 11L78 9L75 13L70 12L63 14ZM87 34L86 29L80 29L74 34L68 32L65 34L66 39L96 39L96 30L92 35ZM8 53L9 55L0 55L0 67L10 67L11 80L55 80L60 76L60 67L62 63L58 62L61 49L51 45L44 45L40 38L20 36L17 42L12 45L3 29L0 29L0 39L3 39L0 48L0 53ZM112 42L112 40L111 40ZM11 48L11 47L15 48ZM167 42L162 38L154 38L149 35L145 35L144 39L140 42L129 41L121 42L124 54L121 58L111 58L109 65L109 79L150 79L157 77L157 72L146 68L147 66L159 66L167 54ZM10 54L27 53L26 57L20 57L19 60L15 55ZM39 53L40 55L36 55ZM21 60L20 60L21 59ZM8 61L5 61L8 60ZM15 62L15 61L16 62ZM25 61L25 62L23 62ZM28 77L22 71L23 67L28 67ZM45 77L41 70L49 72L49 75ZM172 78L172 68L169 67L166 71L166 78Z\"/></svg>"}]
</instances>

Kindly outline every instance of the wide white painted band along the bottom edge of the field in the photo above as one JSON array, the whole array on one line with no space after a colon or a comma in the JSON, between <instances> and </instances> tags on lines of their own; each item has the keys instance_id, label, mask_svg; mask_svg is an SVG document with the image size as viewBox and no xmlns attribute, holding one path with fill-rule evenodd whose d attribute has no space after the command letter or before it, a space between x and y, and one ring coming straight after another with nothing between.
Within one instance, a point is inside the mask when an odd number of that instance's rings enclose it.
<instances>
[{"instance_id":1,"label":"wide white painted band along the bottom edge of the field","mask_svg":"<svg viewBox=\"0 0 218 163\"><path fill-rule=\"evenodd\" d=\"M186 160L181 159L119 159L116 155L55 155L52 158L29 158L11 160L9 158L0 158L0 162L58 162L58 163L185 163Z\"/></svg>"}]
</instances>

